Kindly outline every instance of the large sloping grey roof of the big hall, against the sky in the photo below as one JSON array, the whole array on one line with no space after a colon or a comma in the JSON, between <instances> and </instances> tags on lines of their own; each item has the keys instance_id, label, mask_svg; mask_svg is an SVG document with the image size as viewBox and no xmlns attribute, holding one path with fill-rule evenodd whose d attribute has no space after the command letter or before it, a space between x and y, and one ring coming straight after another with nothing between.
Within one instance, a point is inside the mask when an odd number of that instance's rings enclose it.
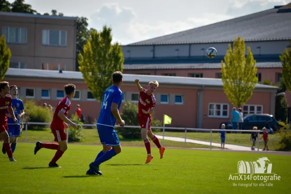
<instances>
[{"instance_id":1,"label":"large sloping grey roof of the big hall, against the sky","mask_svg":"<svg viewBox=\"0 0 291 194\"><path fill-rule=\"evenodd\" d=\"M291 11L286 9L286 12L277 13L278 10L278 8L273 8L183 32L132 43L129 46L233 42L234 38L238 36L242 37L246 42L289 40L291 39Z\"/></svg>"}]
</instances>

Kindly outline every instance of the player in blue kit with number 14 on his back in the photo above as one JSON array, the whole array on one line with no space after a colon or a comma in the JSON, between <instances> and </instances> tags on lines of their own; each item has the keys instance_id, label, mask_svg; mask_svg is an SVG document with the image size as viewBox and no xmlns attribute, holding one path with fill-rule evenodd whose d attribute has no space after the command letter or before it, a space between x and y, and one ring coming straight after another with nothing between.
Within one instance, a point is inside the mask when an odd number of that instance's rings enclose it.
<instances>
[{"instance_id":1,"label":"player in blue kit with number 14 on his back","mask_svg":"<svg viewBox=\"0 0 291 194\"><path fill-rule=\"evenodd\" d=\"M97 120L97 129L103 150L97 155L94 162L89 164L86 175L102 175L99 165L110 160L121 152L118 135L114 130L115 123L123 127L124 121L120 117L119 109L123 97L120 90L123 75L120 71L112 74L113 85L107 88L103 94L100 115Z\"/></svg>"}]
</instances>

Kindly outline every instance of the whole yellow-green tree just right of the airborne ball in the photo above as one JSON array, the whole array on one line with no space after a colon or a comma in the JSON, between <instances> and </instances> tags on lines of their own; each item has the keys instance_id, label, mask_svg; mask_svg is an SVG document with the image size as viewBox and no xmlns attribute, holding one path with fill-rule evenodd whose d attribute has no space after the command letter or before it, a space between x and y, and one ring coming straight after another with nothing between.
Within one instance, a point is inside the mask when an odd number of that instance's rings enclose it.
<instances>
[{"instance_id":1,"label":"whole yellow-green tree just right of the airborne ball","mask_svg":"<svg viewBox=\"0 0 291 194\"><path fill-rule=\"evenodd\" d=\"M223 90L229 101L240 107L253 95L253 89L257 84L256 61L248 47L245 58L245 44L240 37L235 38L233 48L228 46L224 63L222 63Z\"/></svg>"}]
</instances>

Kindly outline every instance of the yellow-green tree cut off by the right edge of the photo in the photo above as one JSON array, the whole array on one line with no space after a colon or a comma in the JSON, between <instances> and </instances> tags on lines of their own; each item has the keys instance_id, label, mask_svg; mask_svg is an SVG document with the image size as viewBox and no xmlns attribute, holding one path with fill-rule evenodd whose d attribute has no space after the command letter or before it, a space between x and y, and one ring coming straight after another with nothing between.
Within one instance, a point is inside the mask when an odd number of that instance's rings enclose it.
<instances>
[{"instance_id":1,"label":"yellow-green tree cut off by the right edge of the photo","mask_svg":"<svg viewBox=\"0 0 291 194\"><path fill-rule=\"evenodd\" d=\"M286 88L291 91L291 47L289 49L285 49L284 53L281 53L280 60L282 64L282 80Z\"/></svg>"}]
</instances>

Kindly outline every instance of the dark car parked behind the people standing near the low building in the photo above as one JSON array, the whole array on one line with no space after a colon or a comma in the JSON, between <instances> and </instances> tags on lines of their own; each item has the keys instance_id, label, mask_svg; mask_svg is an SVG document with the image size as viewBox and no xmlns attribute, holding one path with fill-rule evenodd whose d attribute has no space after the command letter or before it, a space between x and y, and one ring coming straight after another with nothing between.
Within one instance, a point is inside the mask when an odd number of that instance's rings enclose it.
<instances>
[{"instance_id":1,"label":"dark car parked behind the people standing near the low building","mask_svg":"<svg viewBox=\"0 0 291 194\"><path fill-rule=\"evenodd\" d=\"M225 129L232 129L231 121L222 122L220 124L220 127L222 124L225 125ZM253 129L254 126L257 126L257 128L260 130L263 127L266 127L267 129L272 128L273 131L269 130L268 132L274 133L274 131L277 131L277 128L278 128L278 121L276 121L274 116L271 114L248 114L248 115L245 115L243 117L242 129L243 130L251 130L251 129Z\"/></svg>"}]
</instances>

